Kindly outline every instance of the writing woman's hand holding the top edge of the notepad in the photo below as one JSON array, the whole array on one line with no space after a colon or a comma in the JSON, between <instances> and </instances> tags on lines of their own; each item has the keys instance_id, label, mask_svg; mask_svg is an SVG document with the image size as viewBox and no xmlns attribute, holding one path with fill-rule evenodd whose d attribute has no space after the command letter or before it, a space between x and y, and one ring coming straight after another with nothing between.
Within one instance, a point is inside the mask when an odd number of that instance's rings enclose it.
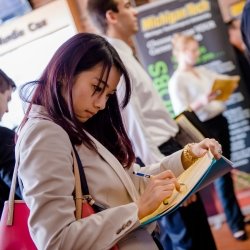
<instances>
[{"instance_id":1,"label":"writing woman's hand holding the top edge of the notepad","mask_svg":"<svg viewBox=\"0 0 250 250\"><path fill-rule=\"evenodd\" d=\"M208 150L211 151L215 159L221 158L222 147L215 139L206 138L199 143L190 146L190 150L194 157L202 157Z\"/></svg>"}]
</instances>

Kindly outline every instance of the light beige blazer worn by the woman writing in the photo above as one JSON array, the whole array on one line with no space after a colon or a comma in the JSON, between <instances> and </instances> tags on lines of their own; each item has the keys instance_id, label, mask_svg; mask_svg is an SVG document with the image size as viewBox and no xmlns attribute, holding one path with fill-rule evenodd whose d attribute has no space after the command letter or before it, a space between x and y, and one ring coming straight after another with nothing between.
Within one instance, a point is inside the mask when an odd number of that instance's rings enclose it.
<instances>
[{"instance_id":1,"label":"light beige blazer worn by the woman writing","mask_svg":"<svg viewBox=\"0 0 250 250\"><path fill-rule=\"evenodd\" d=\"M76 221L72 145L67 133L49 121L42 107L33 105L21 130L16 159L23 198L30 209L29 230L38 249L157 249L151 233L155 224L141 227L135 201L146 180L125 170L119 161L92 136L98 153L83 144L77 147L93 198L106 210ZM184 171L181 151L141 171L150 174L171 169Z\"/></svg>"}]
</instances>

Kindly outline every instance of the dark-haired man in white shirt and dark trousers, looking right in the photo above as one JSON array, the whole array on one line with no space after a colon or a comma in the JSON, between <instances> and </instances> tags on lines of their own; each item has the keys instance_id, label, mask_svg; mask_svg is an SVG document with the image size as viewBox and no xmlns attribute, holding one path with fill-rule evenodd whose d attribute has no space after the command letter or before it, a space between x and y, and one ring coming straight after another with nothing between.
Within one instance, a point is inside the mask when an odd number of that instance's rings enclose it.
<instances>
[{"instance_id":1,"label":"dark-haired man in white shirt and dark trousers, looking right","mask_svg":"<svg viewBox=\"0 0 250 250\"><path fill-rule=\"evenodd\" d=\"M137 12L131 2L91 0L88 10L100 32L117 50L130 76L131 99L122 110L122 117L136 156L148 165L180 150L182 147L175 139L178 126L130 47L138 31ZM122 99L123 85L118 86L118 99ZM164 249L216 249L199 195L194 195L190 203L158 221ZM190 220L194 214L196 220Z\"/></svg>"}]
</instances>

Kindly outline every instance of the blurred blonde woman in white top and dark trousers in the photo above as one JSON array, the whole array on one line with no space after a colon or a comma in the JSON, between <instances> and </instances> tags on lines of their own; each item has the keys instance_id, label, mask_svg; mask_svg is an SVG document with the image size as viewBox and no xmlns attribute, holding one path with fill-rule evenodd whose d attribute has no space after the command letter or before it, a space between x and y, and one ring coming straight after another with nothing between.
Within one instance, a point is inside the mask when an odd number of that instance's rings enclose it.
<instances>
[{"instance_id":1,"label":"blurred blonde woman in white top and dark trousers","mask_svg":"<svg viewBox=\"0 0 250 250\"><path fill-rule=\"evenodd\" d=\"M176 115L191 108L209 134L223 145L223 155L230 159L229 129L223 116L225 104L211 92L215 79L222 77L205 67L195 67L199 44L193 36L175 34L173 54L178 67L169 81L169 95ZM244 216L234 192L231 173L218 178L215 189L221 200L227 223L237 240L246 240Z\"/></svg>"}]
</instances>

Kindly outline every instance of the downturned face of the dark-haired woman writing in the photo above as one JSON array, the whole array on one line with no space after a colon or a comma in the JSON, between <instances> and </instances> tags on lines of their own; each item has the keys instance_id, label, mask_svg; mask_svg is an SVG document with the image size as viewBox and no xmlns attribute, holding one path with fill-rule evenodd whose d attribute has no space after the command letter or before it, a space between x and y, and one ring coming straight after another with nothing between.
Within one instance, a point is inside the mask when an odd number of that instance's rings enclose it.
<instances>
[{"instance_id":1,"label":"downturned face of the dark-haired woman writing","mask_svg":"<svg viewBox=\"0 0 250 250\"><path fill-rule=\"evenodd\" d=\"M103 66L98 64L75 78L72 90L73 108L81 122L86 122L99 110L104 109L108 98L116 91L121 74L113 66L106 83L105 77L100 79L102 68Z\"/></svg>"}]
</instances>

